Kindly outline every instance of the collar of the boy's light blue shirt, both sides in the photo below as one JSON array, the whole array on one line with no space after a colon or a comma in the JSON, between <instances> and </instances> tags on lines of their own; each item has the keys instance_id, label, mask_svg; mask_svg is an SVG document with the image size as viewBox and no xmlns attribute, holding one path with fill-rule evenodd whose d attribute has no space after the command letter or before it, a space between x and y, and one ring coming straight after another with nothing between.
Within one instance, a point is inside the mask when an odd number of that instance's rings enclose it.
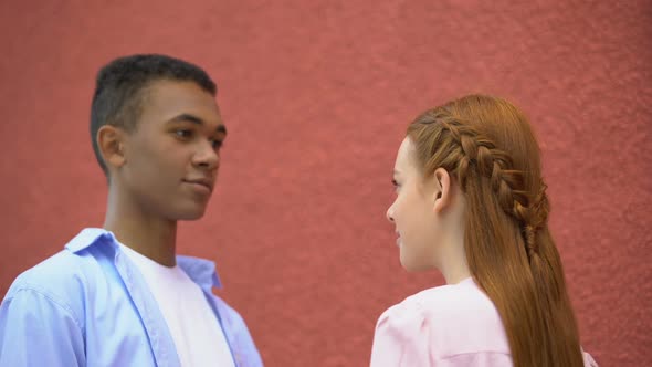
<instances>
[{"instance_id":1,"label":"collar of the boy's light blue shirt, both sides","mask_svg":"<svg viewBox=\"0 0 652 367\"><path fill-rule=\"evenodd\" d=\"M102 228L85 228L80 234L75 235L65 248L73 253L77 253L96 243L106 243L118 249L118 241L115 235ZM211 287L222 287L222 282L218 275L215 263L209 260L177 255L177 264L190 279L201 289L210 292Z\"/></svg>"}]
</instances>

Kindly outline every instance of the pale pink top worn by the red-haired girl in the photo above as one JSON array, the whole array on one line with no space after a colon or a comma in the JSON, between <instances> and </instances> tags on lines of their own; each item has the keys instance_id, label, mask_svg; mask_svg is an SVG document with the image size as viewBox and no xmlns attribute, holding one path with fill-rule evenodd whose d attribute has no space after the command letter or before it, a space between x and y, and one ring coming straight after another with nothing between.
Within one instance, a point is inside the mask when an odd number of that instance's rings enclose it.
<instances>
[{"instance_id":1,"label":"pale pink top worn by the red-haired girl","mask_svg":"<svg viewBox=\"0 0 652 367\"><path fill-rule=\"evenodd\" d=\"M473 279L417 293L378 319L371 367L420 366L512 367L501 316Z\"/></svg>"}]
</instances>

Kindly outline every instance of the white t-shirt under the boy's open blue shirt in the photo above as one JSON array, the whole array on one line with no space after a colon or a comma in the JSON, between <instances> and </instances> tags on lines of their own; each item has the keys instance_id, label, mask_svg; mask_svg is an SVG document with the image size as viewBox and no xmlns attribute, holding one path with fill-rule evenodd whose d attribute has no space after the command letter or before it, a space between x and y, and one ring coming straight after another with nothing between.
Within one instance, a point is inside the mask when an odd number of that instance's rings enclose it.
<instances>
[{"instance_id":1,"label":"white t-shirt under the boy's open blue shirt","mask_svg":"<svg viewBox=\"0 0 652 367\"><path fill-rule=\"evenodd\" d=\"M138 268L168 325L185 367L234 367L229 344L199 285L176 265L164 266L120 243Z\"/></svg>"}]
</instances>

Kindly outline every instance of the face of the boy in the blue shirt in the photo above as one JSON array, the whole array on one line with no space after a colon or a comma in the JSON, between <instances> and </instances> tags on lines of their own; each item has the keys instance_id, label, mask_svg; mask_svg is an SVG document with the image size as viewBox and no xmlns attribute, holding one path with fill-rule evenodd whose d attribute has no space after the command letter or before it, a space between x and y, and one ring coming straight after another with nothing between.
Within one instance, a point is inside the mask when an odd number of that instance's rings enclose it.
<instances>
[{"instance_id":1,"label":"face of the boy in the blue shirt","mask_svg":"<svg viewBox=\"0 0 652 367\"><path fill-rule=\"evenodd\" d=\"M130 210L153 218L193 220L212 193L227 130L213 96L192 82L157 81L124 139L119 176Z\"/></svg>"}]
</instances>

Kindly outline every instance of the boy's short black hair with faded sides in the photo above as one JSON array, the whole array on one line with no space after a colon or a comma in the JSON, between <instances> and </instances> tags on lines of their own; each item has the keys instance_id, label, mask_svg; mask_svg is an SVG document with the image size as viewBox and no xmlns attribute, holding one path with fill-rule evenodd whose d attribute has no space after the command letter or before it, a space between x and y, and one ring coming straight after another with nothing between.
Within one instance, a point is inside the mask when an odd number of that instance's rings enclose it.
<instances>
[{"instance_id":1,"label":"boy's short black hair with faded sides","mask_svg":"<svg viewBox=\"0 0 652 367\"><path fill-rule=\"evenodd\" d=\"M189 62L159 54L136 54L116 59L97 73L91 106L91 140L95 158L108 176L97 146L97 132L104 125L133 130L140 117L145 90L161 80L194 82L215 95L215 83L206 71Z\"/></svg>"}]
</instances>

